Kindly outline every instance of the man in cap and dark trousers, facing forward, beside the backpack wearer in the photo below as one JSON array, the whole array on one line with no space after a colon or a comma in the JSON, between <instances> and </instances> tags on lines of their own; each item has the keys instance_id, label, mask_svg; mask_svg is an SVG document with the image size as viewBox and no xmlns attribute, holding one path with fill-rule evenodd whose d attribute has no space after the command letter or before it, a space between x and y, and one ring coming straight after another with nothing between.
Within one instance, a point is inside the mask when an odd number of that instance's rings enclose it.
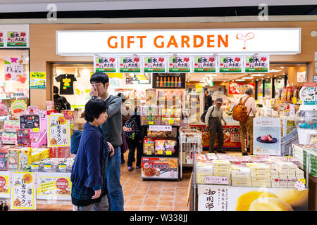
<instances>
[{"instance_id":1,"label":"man in cap and dark trousers, facing forward, beside the backpack wearer","mask_svg":"<svg viewBox=\"0 0 317 225\"><path fill-rule=\"evenodd\" d=\"M221 120L225 123L225 126L227 126L227 122L223 119L223 107L221 105L223 105L223 99L217 98L216 105L209 107L206 113L205 124L206 127L209 127L210 132L209 153L215 153L213 146L216 133L218 133L217 153L225 153L223 150L223 124L221 124Z\"/></svg>"}]
</instances>

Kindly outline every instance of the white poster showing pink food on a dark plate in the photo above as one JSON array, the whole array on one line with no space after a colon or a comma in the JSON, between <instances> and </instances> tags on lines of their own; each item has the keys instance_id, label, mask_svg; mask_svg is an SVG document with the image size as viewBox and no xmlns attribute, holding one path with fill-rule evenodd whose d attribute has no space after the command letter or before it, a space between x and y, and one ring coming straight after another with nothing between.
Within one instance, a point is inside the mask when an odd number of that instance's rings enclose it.
<instances>
[{"instance_id":1,"label":"white poster showing pink food on a dark plate","mask_svg":"<svg viewBox=\"0 0 317 225\"><path fill-rule=\"evenodd\" d=\"M254 118L253 143L254 155L281 155L280 118Z\"/></svg>"}]
</instances>

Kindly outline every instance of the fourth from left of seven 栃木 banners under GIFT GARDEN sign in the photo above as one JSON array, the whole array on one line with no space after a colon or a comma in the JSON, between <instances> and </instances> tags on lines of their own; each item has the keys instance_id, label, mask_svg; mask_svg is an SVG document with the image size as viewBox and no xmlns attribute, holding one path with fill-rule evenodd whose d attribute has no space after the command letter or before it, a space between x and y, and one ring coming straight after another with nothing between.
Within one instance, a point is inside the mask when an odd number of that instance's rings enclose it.
<instances>
[{"instance_id":1,"label":"fourth from left of seven \u6803\u6728 banners under GIFT GARDEN sign","mask_svg":"<svg viewBox=\"0 0 317 225\"><path fill-rule=\"evenodd\" d=\"M168 72L191 72L192 58L189 56L170 56Z\"/></svg>"}]
</instances>

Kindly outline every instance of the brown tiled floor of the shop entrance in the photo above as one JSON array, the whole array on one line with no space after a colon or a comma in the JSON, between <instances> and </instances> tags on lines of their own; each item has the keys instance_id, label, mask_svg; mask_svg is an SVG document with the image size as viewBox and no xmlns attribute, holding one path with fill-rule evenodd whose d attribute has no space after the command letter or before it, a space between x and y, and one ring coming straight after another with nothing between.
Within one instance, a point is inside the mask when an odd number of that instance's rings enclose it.
<instances>
[{"instance_id":1,"label":"brown tiled floor of the shop entrance","mask_svg":"<svg viewBox=\"0 0 317 225\"><path fill-rule=\"evenodd\" d=\"M128 171L128 151L121 165L121 185L125 211L189 211L187 190L189 179L182 181L143 181L141 169ZM133 163L135 167L135 162ZM37 204L37 210L73 211L73 205Z\"/></svg>"}]
</instances>

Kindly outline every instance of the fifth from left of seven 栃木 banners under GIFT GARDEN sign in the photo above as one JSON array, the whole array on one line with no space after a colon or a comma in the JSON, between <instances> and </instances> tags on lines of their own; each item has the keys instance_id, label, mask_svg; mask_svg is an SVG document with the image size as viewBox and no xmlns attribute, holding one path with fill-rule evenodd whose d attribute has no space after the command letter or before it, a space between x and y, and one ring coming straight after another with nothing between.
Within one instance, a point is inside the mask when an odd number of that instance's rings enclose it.
<instances>
[{"instance_id":1,"label":"fifth from left of seven \u6803\u6728 banners under GIFT GARDEN sign","mask_svg":"<svg viewBox=\"0 0 317 225\"><path fill-rule=\"evenodd\" d=\"M216 56L194 56L194 72L216 72Z\"/></svg>"}]
</instances>

